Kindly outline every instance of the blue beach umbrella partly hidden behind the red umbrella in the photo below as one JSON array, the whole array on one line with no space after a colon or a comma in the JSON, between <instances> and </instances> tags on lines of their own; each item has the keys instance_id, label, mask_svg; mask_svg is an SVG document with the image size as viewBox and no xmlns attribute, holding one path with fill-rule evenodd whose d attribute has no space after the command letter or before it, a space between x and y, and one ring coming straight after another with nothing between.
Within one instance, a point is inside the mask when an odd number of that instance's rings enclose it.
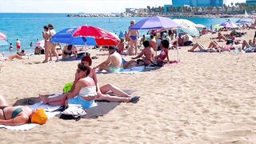
<instances>
[{"instance_id":1,"label":"blue beach umbrella partly hidden behind the red umbrella","mask_svg":"<svg viewBox=\"0 0 256 144\"><path fill-rule=\"evenodd\" d=\"M94 38L85 38L85 37L73 37L73 33L77 30L78 27L70 27L64 30L61 30L57 34L54 34L52 41L55 43L66 43L71 45L87 45L87 46L96 46L96 41Z\"/></svg>"}]
</instances>

